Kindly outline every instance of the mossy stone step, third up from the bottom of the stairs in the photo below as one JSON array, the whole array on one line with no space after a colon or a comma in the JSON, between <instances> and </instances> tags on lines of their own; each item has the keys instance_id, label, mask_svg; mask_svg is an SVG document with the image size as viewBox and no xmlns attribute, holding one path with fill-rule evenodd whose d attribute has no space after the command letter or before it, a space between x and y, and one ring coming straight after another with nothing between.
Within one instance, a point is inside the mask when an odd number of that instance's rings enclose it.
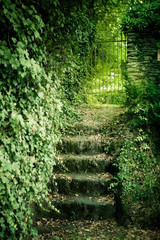
<instances>
[{"instance_id":1,"label":"mossy stone step, third up from the bottom of the stairs","mask_svg":"<svg viewBox=\"0 0 160 240\"><path fill-rule=\"evenodd\" d=\"M105 153L95 155L60 155L57 157L56 172L104 173L112 171L112 158Z\"/></svg>"}]
</instances>

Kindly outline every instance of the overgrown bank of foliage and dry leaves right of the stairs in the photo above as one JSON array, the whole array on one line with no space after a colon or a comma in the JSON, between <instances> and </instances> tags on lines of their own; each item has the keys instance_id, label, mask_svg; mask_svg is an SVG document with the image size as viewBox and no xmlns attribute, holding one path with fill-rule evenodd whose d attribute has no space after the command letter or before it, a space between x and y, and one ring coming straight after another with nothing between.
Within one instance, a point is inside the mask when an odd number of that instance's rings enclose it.
<instances>
[{"instance_id":1,"label":"overgrown bank of foliage and dry leaves right of the stairs","mask_svg":"<svg viewBox=\"0 0 160 240\"><path fill-rule=\"evenodd\" d=\"M160 164L155 154L153 132L135 126L133 129L132 121L126 118L124 114L119 121L107 127L109 140L105 150L114 159L115 166L115 181L110 188L117 197L118 205L122 203L120 217L127 214L133 217L134 222L139 222L142 209L134 214L136 206L142 204L143 223L146 221L145 216L148 216L145 224L157 225L160 215Z\"/></svg>"}]
</instances>

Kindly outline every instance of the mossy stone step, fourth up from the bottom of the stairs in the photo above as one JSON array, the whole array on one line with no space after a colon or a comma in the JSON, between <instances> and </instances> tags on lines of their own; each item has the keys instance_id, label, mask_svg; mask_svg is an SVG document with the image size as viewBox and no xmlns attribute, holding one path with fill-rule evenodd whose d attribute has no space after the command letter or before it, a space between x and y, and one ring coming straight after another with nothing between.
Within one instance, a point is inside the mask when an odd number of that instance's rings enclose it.
<instances>
[{"instance_id":1,"label":"mossy stone step, fourth up from the bottom of the stairs","mask_svg":"<svg viewBox=\"0 0 160 240\"><path fill-rule=\"evenodd\" d=\"M59 150L62 153L95 154L104 150L100 135L62 137Z\"/></svg>"}]
</instances>

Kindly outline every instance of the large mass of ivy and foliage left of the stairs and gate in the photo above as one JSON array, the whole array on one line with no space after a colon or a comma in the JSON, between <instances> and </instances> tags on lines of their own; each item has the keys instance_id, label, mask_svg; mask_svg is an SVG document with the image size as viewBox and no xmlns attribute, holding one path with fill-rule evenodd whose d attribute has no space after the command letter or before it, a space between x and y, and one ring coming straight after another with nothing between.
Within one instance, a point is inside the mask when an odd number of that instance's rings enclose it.
<instances>
[{"instance_id":1,"label":"large mass of ivy and foliage left of the stairs and gate","mask_svg":"<svg viewBox=\"0 0 160 240\"><path fill-rule=\"evenodd\" d=\"M36 235L31 206L47 201L60 131L78 116L70 102L84 100L84 57L104 5L0 0L2 239Z\"/></svg>"}]
</instances>

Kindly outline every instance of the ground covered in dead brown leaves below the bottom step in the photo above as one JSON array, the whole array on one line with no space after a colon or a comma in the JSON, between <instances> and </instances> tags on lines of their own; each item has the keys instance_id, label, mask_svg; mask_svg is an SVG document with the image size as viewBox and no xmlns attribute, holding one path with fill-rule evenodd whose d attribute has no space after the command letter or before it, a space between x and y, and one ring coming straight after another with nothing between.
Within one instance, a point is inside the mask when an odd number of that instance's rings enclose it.
<instances>
[{"instance_id":1,"label":"ground covered in dead brown leaves below the bottom step","mask_svg":"<svg viewBox=\"0 0 160 240\"><path fill-rule=\"evenodd\" d=\"M58 240L154 240L160 238L160 230L144 230L130 226L124 228L119 226L114 219L91 221L91 220L53 220L43 219L37 222L37 225L43 225L54 229L51 233L42 234L45 240L54 240L53 236L57 236ZM37 240L41 240L39 236ZM55 238L56 239L56 238Z\"/></svg>"}]
</instances>

